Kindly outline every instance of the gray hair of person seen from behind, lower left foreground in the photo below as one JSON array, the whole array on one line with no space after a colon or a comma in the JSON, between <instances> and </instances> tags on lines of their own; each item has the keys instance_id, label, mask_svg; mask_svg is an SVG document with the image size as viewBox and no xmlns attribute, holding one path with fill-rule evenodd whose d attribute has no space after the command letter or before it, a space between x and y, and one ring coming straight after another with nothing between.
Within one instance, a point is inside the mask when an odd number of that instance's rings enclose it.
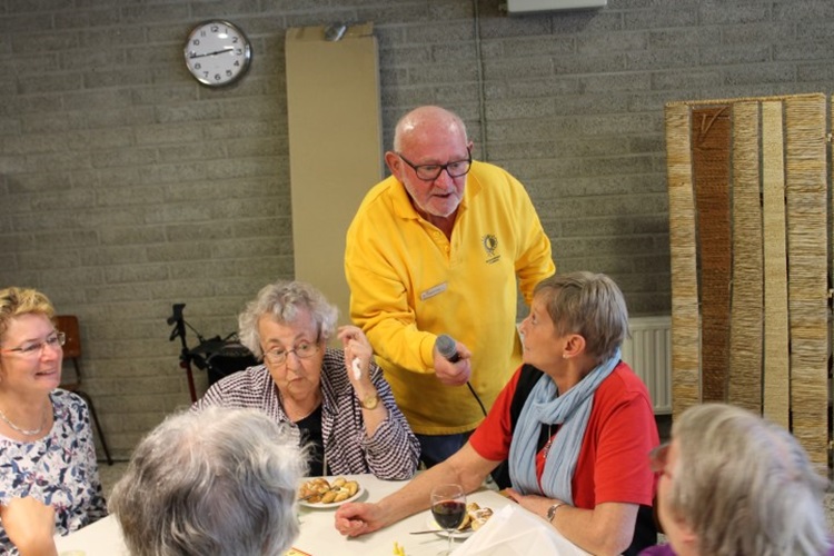
<instances>
[{"instance_id":1,"label":"gray hair of person seen from behind, lower left foreground","mask_svg":"<svg viewBox=\"0 0 834 556\"><path fill-rule=\"evenodd\" d=\"M113 487L130 554L282 555L298 536L298 443L257 409L168 417Z\"/></svg>"}]
</instances>

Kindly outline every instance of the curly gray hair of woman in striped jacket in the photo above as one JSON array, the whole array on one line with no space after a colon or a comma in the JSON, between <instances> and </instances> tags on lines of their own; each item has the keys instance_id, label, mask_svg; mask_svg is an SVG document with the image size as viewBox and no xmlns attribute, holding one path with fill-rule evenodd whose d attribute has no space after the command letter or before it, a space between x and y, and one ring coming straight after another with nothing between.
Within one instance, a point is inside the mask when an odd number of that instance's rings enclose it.
<instances>
[{"instance_id":1,"label":"curly gray hair of woman in striped jacket","mask_svg":"<svg viewBox=\"0 0 834 556\"><path fill-rule=\"evenodd\" d=\"M311 285L302 281L278 280L265 286L238 317L238 337L258 359L264 357L258 321L269 315L277 322L291 324L299 311L308 311L318 326L318 339L328 340L336 331L339 310Z\"/></svg>"}]
</instances>

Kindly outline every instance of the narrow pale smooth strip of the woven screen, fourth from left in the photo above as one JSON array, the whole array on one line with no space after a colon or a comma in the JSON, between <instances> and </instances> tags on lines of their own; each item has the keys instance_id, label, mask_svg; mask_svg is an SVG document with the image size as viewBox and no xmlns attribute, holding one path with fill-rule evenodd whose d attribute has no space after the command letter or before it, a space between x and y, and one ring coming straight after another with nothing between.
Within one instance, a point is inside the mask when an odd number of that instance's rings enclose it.
<instances>
[{"instance_id":1,"label":"narrow pale smooth strip of the woven screen, fourth from left","mask_svg":"<svg viewBox=\"0 0 834 556\"><path fill-rule=\"evenodd\" d=\"M765 345L764 415L790 426L791 358L787 331L787 222L782 102L762 103Z\"/></svg>"}]
</instances>

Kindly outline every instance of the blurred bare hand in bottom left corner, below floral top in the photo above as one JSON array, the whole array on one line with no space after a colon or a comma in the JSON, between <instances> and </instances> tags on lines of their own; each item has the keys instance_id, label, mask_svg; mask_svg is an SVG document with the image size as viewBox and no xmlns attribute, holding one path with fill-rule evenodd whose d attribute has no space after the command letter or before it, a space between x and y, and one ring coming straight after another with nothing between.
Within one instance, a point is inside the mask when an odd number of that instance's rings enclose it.
<instances>
[{"instance_id":1,"label":"blurred bare hand in bottom left corner, below floral top","mask_svg":"<svg viewBox=\"0 0 834 556\"><path fill-rule=\"evenodd\" d=\"M54 535L52 506L47 506L29 496L12 498L8 505L0 505L0 519L2 519L6 534L18 547L21 556L58 554L52 540Z\"/></svg>"}]
</instances>

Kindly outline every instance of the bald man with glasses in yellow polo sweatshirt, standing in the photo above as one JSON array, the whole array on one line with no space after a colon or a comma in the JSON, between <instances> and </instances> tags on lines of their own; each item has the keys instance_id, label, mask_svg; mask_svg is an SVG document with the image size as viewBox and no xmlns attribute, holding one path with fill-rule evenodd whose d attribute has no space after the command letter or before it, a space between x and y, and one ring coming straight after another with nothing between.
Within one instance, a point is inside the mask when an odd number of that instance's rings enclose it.
<instances>
[{"instance_id":1,"label":"bald man with glasses in yellow polo sweatshirt, standing","mask_svg":"<svg viewBox=\"0 0 834 556\"><path fill-rule=\"evenodd\" d=\"M520 365L518 288L529 305L534 286L555 272L524 187L473 161L471 147L457 115L408 112L385 155L391 176L366 195L347 232L350 317L428 466L466 443ZM436 349L444 334L456 340L457 363Z\"/></svg>"}]
</instances>

